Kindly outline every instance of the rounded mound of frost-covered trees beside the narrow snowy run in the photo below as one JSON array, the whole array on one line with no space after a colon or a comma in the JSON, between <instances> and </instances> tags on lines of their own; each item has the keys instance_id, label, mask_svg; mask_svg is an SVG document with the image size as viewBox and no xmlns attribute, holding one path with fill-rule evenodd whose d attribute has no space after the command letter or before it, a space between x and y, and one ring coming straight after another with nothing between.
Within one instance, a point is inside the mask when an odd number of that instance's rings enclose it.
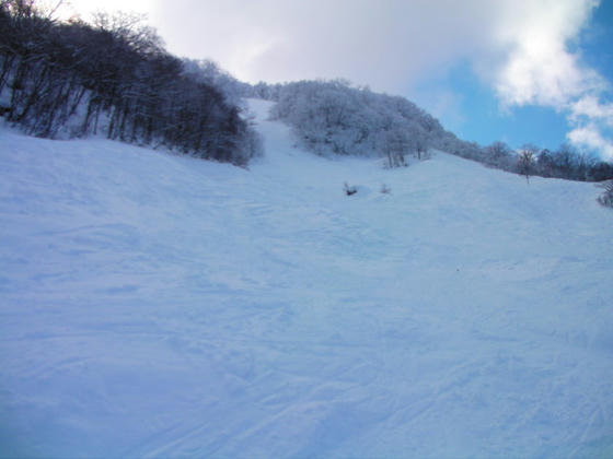
<instances>
[{"instance_id":1,"label":"rounded mound of frost-covered trees beside the narrow snowy run","mask_svg":"<svg viewBox=\"0 0 613 459\"><path fill-rule=\"evenodd\" d=\"M383 155L390 165L426 155L443 131L403 97L352 87L343 80L301 81L281 87L271 115L292 126L319 154Z\"/></svg>"}]
</instances>

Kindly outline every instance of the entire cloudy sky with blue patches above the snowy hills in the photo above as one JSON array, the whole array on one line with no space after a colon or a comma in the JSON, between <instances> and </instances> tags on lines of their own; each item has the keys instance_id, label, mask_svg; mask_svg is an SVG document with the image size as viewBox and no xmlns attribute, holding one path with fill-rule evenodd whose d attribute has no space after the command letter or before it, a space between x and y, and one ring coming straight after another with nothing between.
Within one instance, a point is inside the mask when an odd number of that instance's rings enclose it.
<instances>
[{"instance_id":1,"label":"entire cloudy sky with blue patches above the snowy hills","mask_svg":"<svg viewBox=\"0 0 613 459\"><path fill-rule=\"evenodd\" d=\"M101 2L71 0L84 17ZM106 0L240 80L344 78L466 140L569 140L613 160L610 0Z\"/></svg>"}]
</instances>

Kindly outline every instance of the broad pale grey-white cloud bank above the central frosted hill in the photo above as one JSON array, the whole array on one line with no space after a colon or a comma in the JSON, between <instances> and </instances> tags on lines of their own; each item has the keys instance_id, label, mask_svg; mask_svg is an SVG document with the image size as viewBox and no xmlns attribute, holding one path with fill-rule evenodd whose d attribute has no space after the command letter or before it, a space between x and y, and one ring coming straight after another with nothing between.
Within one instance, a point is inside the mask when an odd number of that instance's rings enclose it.
<instances>
[{"instance_id":1,"label":"broad pale grey-white cloud bank above the central frosted hill","mask_svg":"<svg viewBox=\"0 0 613 459\"><path fill-rule=\"evenodd\" d=\"M405 93L483 52L494 3L177 0L162 3L155 25L174 52L211 57L244 80L347 78Z\"/></svg>"}]
</instances>

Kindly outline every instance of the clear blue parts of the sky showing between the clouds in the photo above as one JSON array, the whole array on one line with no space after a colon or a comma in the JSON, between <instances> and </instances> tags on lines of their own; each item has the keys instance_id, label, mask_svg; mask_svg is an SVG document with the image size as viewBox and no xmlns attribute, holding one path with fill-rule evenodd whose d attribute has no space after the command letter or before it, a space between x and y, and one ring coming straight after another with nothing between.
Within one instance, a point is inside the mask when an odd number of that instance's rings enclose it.
<instances>
[{"instance_id":1,"label":"clear blue parts of the sky showing between the clouds","mask_svg":"<svg viewBox=\"0 0 613 459\"><path fill-rule=\"evenodd\" d=\"M590 21L567 46L580 56L583 66L613 82L612 44L613 1L605 1L594 8ZM439 108L437 97L446 91L454 97ZM602 91L599 95L603 102L611 102L611 91ZM539 104L501 106L496 92L479 79L466 60L456 63L444 78L424 81L413 98L437 111L446 128L482 144L501 140L513 148L533 143L555 149L568 141L566 134L572 129L567 110L559 107ZM603 127L602 131L613 138L611 129Z\"/></svg>"}]
</instances>

